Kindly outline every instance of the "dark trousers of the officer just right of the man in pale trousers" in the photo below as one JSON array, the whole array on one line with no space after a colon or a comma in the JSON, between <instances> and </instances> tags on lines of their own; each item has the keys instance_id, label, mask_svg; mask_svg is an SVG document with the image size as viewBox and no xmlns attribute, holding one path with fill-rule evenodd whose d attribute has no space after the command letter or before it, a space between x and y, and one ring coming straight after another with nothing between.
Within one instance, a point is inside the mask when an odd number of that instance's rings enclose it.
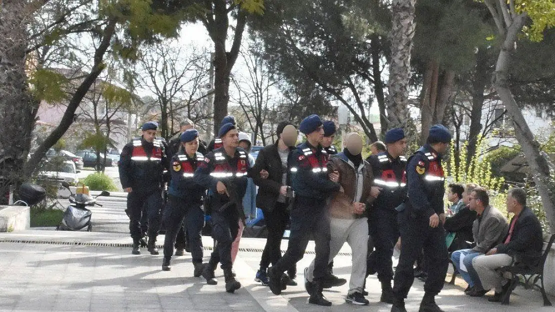
<instances>
[{"instance_id":1,"label":"dark trousers of the officer just right of the man in pale trousers","mask_svg":"<svg viewBox=\"0 0 555 312\"><path fill-rule=\"evenodd\" d=\"M371 227L374 234L374 250L368 257L368 272L377 272L380 282L393 279L393 248L399 238L397 212L395 209L374 207L371 212Z\"/></svg>"}]
</instances>

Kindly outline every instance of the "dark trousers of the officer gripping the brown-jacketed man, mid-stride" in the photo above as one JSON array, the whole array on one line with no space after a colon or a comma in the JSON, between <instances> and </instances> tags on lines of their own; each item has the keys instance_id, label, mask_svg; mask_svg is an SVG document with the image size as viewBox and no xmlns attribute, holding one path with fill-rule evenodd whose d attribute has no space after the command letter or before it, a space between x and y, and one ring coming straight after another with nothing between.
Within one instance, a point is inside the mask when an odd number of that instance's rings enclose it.
<instances>
[{"instance_id":1,"label":"dark trousers of the officer gripping the brown-jacketed man, mid-stride","mask_svg":"<svg viewBox=\"0 0 555 312\"><path fill-rule=\"evenodd\" d=\"M296 263L304 257L311 235L316 244L314 282L318 282L327 275L327 263L330 260L330 217L325 200L297 197L291 211L289 245L275 264L278 274L296 267Z\"/></svg>"}]
</instances>

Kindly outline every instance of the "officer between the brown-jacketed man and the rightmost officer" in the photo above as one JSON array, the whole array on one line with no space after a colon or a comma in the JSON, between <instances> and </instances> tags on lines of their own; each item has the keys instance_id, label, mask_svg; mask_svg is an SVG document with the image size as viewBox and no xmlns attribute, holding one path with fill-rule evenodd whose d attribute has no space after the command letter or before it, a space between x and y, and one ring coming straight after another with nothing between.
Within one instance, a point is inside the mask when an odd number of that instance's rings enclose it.
<instances>
[{"instance_id":1,"label":"officer between the brown-jacketed man and the rightmost officer","mask_svg":"<svg viewBox=\"0 0 555 312\"><path fill-rule=\"evenodd\" d=\"M367 274L377 272L381 283L382 294L380 301L393 303L393 248L399 238L397 226L397 211L407 196L406 165L407 158L403 156L407 148L405 132L391 129L385 134L387 150L369 157L374 186L378 188L378 196L370 211L370 228L376 250L368 257Z\"/></svg>"}]
</instances>

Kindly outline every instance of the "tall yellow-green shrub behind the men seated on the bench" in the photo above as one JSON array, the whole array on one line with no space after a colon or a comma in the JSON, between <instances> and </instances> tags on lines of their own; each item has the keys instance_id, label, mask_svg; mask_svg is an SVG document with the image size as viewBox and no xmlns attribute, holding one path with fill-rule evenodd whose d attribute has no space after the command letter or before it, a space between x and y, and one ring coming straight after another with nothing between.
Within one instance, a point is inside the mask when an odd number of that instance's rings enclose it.
<instances>
[{"instance_id":1,"label":"tall yellow-green shrub behind the men seated on the bench","mask_svg":"<svg viewBox=\"0 0 555 312\"><path fill-rule=\"evenodd\" d=\"M504 183L504 178L494 177L492 175L491 163L483 161L483 158L481 158L481 155L485 154L486 150L485 140L483 140L481 137L478 138L476 154L471 157L470 163L466 162L467 147L468 142L465 142L462 145L459 156L460 162L457 165L455 161L455 147L454 145L451 145L451 155L447 170L447 176L451 176L454 182L476 183L477 185L485 187L490 191L500 191Z\"/></svg>"}]
</instances>

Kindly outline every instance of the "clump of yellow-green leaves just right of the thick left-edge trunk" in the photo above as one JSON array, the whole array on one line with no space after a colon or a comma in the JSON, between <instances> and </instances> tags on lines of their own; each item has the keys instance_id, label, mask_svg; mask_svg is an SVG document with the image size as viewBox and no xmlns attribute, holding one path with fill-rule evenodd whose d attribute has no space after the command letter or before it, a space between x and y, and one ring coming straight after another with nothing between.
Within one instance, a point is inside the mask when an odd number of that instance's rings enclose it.
<instances>
[{"instance_id":1,"label":"clump of yellow-green leaves just right of the thick left-edge trunk","mask_svg":"<svg viewBox=\"0 0 555 312\"><path fill-rule=\"evenodd\" d=\"M69 80L64 75L46 69L34 71L29 78L33 97L48 103L55 103L67 98L64 89L68 82Z\"/></svg>"}]
</instances>

